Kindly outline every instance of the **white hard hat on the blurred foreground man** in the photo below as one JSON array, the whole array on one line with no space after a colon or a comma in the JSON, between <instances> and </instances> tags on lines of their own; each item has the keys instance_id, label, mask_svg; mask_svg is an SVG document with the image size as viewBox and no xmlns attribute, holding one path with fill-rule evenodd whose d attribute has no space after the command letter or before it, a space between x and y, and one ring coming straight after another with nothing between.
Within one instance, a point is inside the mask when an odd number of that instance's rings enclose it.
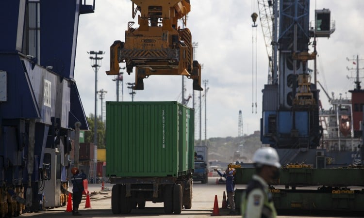
<instances>
[{"instance_id":1,"label":"white hard hat on the blurred foreground man","mask_svg":"<svg viewBox=\"0 0 364 218\"><path fill-rule=\"evenodd\" d=\"M253 156L253 162L280 168L280 158L276 149L271 147L263 147L258 149Z\"/></svg>"}]
</instances>

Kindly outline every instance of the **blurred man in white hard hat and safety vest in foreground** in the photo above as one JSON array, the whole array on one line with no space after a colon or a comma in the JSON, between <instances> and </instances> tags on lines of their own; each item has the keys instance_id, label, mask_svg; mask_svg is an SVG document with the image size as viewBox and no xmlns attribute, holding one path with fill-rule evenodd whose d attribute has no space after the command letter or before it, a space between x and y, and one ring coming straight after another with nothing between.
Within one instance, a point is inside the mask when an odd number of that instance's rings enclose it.
<instances>
[{"instance_id":1,"label":"blurred man in white hard hat and safety vest in foreground","mask_svg":"<svg viewBox=\"0 0 364 218\"><path fill-rule=\"evenodd\" d=\"M275 218L277 212L268 183L279 177L281 164L277 151L271 147L260 148L254 153L253 163L256 174L243 194L241 214L243 218Z\"/></svg>"}]
</instances>

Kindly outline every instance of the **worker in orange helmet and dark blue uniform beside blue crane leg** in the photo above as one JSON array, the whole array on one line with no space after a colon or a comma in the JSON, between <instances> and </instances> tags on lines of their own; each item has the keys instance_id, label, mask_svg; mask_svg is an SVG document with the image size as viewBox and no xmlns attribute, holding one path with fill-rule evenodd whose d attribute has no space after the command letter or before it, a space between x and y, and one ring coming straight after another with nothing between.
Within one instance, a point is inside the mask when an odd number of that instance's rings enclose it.
<instances>
[{"instance_id":1,"label":"worker in orange helmet and dark blue uniform beside blue crane leg","mask_svg":"<svg viewBox=\"0 0 364 218\"><path fill-rule=\"evenodd\" d=\"M81 216L81 214L78 212L78 207L81 203L82 199L82 193L84 190L83 187L83 180L86 179L86 174L80 173L77 167L72 168L71 170L73 176L71 177L72 182L72 192L73 192L73 209L72 209L72 215L73 216Z\"/></svg>"}]
</instances>

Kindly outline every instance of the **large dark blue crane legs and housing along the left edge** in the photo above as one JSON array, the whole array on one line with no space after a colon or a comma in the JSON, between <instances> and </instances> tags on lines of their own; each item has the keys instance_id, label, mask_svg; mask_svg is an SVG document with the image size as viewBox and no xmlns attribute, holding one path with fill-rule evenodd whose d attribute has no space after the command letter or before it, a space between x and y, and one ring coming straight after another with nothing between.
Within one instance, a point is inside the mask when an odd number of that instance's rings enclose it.
<instances>
[{"instance_id":1,"label":"large dark blue crane legs and housing along the left edge","mask_svg":"<svg viewBox=\"0 0 364 218\"><path fill-rule=\"evenodd\" d=\"M2 217L64 204L74 124L88 129L73 76L79 16L94 12L89 3L0 1Z\"/></svg>"}]
</instances>

